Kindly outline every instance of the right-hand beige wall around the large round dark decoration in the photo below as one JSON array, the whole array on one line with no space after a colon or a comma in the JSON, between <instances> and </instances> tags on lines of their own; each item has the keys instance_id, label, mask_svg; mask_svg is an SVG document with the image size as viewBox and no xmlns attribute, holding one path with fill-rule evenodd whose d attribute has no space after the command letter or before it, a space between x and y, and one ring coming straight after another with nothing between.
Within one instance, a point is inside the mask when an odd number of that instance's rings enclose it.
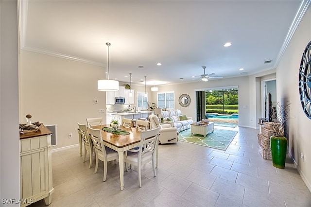
<instances>
[{"instance_id":1,"label":"right-hand beige wall around the large round dark decoration","mask_svg":"<svg viewBox=\"0 0 311 207\"><path fill-rule=\"evenodd\" d=\"M311 120L304 114L298 91L298 72L302 52L311 41L311 8L296 30L286 52L276 68L277 101L291 103L290 120L287 122L289 153L293 156L301 177L311 190ZM310 68L309 68L310 69ZM305 162L300 158L305 155Z\"/></svg>"}]
</instances>

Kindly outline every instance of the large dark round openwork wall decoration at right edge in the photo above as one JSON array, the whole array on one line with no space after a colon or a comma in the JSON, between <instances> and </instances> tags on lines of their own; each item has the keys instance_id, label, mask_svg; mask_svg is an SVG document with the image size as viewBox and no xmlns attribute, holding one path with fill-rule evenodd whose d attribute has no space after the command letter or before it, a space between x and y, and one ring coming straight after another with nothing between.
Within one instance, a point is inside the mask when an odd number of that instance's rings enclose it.
<instances>
[{"instance_id":1,"label":"large dark round openwork wall decoration at right edge","mask_svg":"<svg viewBox=\"0 0 311 207\"><path fill-rule=\"evenodd\" d=\"M302 53L300 61L299 96L303 111L311 119L311 41Z\"/></svg>"}]
</instances>

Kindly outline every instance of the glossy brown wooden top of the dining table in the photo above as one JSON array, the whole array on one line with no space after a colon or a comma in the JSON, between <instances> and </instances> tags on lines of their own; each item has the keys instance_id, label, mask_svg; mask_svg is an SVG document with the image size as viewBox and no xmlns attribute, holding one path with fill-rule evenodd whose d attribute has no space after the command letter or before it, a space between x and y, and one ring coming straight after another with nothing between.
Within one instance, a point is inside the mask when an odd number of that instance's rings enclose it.
<instances>
[{"instance_id":1,"label":"glossy brown wooden top of the dining table","mask_svg":"<svg viewBox=\"0 0 311 207\"><path fill-rule=\"evenodd\" d=\"M110 125L98 125L98 126L92 126L93 129L100 129L102 132L102 138L105 142L116 146L118 148L126 147L128 145L137 143L140 141L140 132L141 130L138 130L134 127L128 128L120 126L119 129L125 130L129 132L129 135L116 135L110 132L106 132L102 130L103 127L110 127Z\"/></svg>"}]
</instances>

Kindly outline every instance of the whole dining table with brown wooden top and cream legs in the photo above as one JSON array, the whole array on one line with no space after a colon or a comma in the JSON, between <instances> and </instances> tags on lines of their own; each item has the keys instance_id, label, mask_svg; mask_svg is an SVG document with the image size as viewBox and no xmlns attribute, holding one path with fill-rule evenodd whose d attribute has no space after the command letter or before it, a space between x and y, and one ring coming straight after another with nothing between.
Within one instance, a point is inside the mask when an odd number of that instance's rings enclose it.
<instances>
[{"instance_id":1,"label":"whole dining table with brown wooden top and cream legs","mask_svg":"<svg viewBox=\"0 0 311 207\"><path fill-rule=\"evenodd\" d=\"M128 135L118 135L103 130L103 127L110 127L109 124L92 126L93 129L100 129L104 145L118 152L119 155L119 170L120 170L120 185L121 190L124 189L124 152L135 147L140 146L141 130L134 127L120 126L118 129L129 132ZM158 162L158 145L155 149L155 167L157 168Z\"/></svg>"}]
</instances>

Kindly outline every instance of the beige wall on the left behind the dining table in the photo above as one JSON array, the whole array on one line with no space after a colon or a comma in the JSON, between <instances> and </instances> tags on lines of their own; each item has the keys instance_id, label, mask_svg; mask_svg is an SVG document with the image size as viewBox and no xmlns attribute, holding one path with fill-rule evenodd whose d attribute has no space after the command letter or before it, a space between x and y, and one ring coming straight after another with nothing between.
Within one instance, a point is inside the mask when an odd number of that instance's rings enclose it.
<instances>
[{"instance_id":1,"label":"beige wall on the left behind the dining table","mask_svg":"<svg viewBox=\"0 0 311 207\"><path fill-rule=\"evenodd\" d=\"M77 122L86 124L89 117L106 120L106 113L98 111L106 109L105 92L97 90L97 80L104 78L103 67L25 50L20 58L19 122L25 123L25 116L31 114L32 121L57 124L57 146L53 148L78 143ZM135 97L137 91L145 91L144 86L132 88ZM147 92L152 93L149 87ZM73 138L68 138L69 133Z\"/></svg>"}]
</instances>

